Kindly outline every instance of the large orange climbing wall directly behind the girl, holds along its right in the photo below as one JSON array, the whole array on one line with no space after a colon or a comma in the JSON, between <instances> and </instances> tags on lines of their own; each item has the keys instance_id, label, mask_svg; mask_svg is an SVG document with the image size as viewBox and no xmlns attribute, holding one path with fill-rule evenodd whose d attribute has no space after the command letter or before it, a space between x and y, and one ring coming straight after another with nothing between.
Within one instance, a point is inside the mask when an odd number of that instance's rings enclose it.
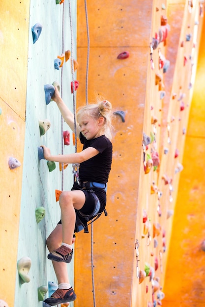
<instances>
[{"instance_id":1,"label":"large orange climbing wall directly behind the girl, holds along its right","mask_svg":"<svg viewBox=\"0 0 205 307\"><path fill-rule=\"evenodd\" d=\"M150 67L149 45L158 34L161 16L168 17L170 32L166 43L153 51L154 69ZM199 21L198 25L195 25ZM199 2L192 12L185 1L121 1L88 3L89 77L88 100L102 96L113 103L114 111L125 112L125 122L114 123L114 156L108 186L108 217L94 223L93 254L96 306L153 306L153 284L163 287L182 162L185 131L189 117L192 87L198 56L203 16ZM186 34L191 33L186 42ZM181 41L184 46L181 47ZM196 45L196 46L195 46ZM126 46L126 47L124 47ZM194 47L193 47L194 46ZM126 60L117 60L120 52L129 51ZM167 74L159 67L159 54L170 60ZM86 17L84 3L78 2L78 104L85 103ZM184 65L184 57L186 63ZM156 84L161 75L161 87ZM161 96L165 94L164 96ZM180 103L184 110L180 111ZM157 122L151 124L151 119ZM168 130L169 127L169 130ZM154 134L145 150L159 153L160 167L145 175L142 139ZM170 138L171 142L168 142ZM176 149L179 156L175 158ZM178 164L180 163L180 164ZM170 184L165 184L166 177ZM156 192L151 194L151 185ZM150 228L144 231L143 209ZM161 211L161 213L160 213ZM159 226L159 232L154 231ZM139 243L136 257L135 243ZM90 234L79 233L75 244L75 306L92 304ZM137 260L140 260L137 262ZM155 267L155 263L158 265ZM145 264L154 276L139 284L138 270ZM85 286L86 285L86 286ZM86 299L85 299L86 298Z\"/></svg>"}]
</instances>

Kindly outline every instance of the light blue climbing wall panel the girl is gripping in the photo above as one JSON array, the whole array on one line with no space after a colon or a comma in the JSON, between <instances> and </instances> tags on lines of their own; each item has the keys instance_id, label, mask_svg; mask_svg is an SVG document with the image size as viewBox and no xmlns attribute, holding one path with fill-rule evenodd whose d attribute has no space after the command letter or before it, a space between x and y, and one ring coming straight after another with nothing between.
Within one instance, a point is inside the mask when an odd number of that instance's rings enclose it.
<instances>
[{"instance_id":1,"label":"light blue climbing wall panel the girl is gripping","mask_svg":"<svg viewBox=\"0 0 205 307\"><path fill-rule=\"evenodd\" d=\"M71 12L71 25L70 17ZM72 165L62 172L59 163L49 172L47 161L38 159L37 148L46 145L54 154L74 152L72 133L70 145L62 144L62 131L69 130L61 120L55 102L45 102L44 85L58 81L61 94L66 104L73 109L71 60L63 63L56 70L54 60L61 53L71 51L71 32L73 34L73 58L76 59L76 2L66 0L64 4L52 1L30 1L29 17L29 57L26 101L26 135L23 161L22 200L18 242L18 260L22 257L31 259L30 281L21 284L16 272L15 307L42 306L38 302L37 289L48 286L48 281L57 282L52 262L47 259L46 238L60 220L59 203L56 202L55 190L67 190L72 187ZM33 44L31 27L42 25L42 32ZM50 129L41 136L39 120L48 119ZM36 222L35 209L45 208L45 218ZM73 285L73 263L68 265L70 281ZM46 294L48 297L48 292ZM72 303L71 303L72 306Z\"/></svg>"}]
</instances>

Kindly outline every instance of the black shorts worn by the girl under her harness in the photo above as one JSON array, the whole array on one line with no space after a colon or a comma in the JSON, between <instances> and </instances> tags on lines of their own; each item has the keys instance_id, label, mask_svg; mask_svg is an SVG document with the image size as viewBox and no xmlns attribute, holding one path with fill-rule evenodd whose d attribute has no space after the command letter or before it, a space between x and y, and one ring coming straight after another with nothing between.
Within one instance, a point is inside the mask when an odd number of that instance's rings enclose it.
<instances>
[{"instance_id":1,"label":"black shorts worn by the girl under her harness","mask_svg":"<svg viewBox=\"0 0 205 307\"><path fill-rule=\"evenodd\" d=\"M105 209L105 205L106 205L106 192L103 189L82 189L79 187L78 183L75 182L71 191L73 190L81 190L84 192L85 197L86 197L86 201L85 204L83 205L83 207L80 209L80 211L83 214L89 215L93 212L94 208L95 208L95 199L92 196L93 193L95 193L95 195L98 197L99 201L100 201L100 209L99 212L103 212L103 210ZM61 220L59 221L58 224L61 224Z\"/></svg>"}]
</instances>

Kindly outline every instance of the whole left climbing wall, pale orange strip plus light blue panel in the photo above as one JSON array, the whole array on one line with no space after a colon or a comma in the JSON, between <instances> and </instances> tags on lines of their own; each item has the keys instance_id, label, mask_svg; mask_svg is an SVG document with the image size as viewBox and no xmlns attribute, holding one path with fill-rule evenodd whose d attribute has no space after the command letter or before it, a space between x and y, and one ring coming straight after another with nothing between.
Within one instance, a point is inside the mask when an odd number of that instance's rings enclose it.
<instances>
[{"instance_id":1,"label":"whole left climbing wall, pale orange strip plus light blue panel","mask_svg":"<svg viewBox=\"0 0 205 307\"><path fill-rule=\"evenodd\" d=\"M37 147L44 144L52 153L74 152L72 144L61 146L63 122L55 102L46 105L44 85L57 80L63 99L73 108L70 82L71 60L59 70L54 60L62 52L71 51L70 18L73 30L73 57L76 58L76 4L57 5L56 1L1 3L1 289L0 299L8 306L42 306L37 288L48 281L57 282L51 261L47 259L45 240L60 219L55 190L70 189L72 167L62 177L59 163L49 172L46 160L39 161ZM63 12L64 11L64 12ZM31 27L42 25L42 32L33 44ZM7 65L5 65L7 62ZM4 73L2 73L4 72ZM4 74L4 76L3 76ZM26 117L25 117L26 115ZM40 136L39 120L48 119L51 128ZM8 157L14 156L21 166L8 167ZM63 181L63 182L62 182ZM36 223L35 209L45 208L45 218ZM30 281L21 284L17 261L31 259ZM8 261L9 259L9 261ZM73 265L68 266L73 282ZM8 286L9 284L9 286ZM15 298L14 298L15 295ZM48 293L47 293L48 296Z\"/></svg>"}]
</instances>

